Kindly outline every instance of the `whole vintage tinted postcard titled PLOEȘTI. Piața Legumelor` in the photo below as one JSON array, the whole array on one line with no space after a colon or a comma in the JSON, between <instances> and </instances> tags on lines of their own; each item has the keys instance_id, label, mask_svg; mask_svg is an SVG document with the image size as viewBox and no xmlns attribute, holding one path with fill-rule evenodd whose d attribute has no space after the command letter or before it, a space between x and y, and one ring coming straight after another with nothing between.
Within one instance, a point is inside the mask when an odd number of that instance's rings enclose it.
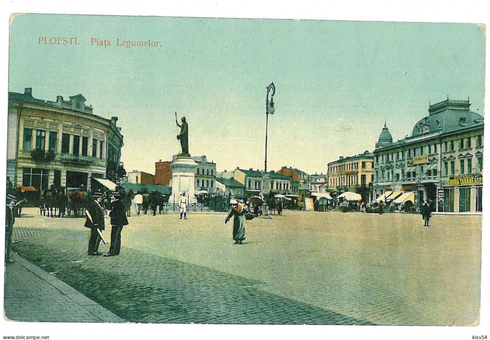
<instances>
[{"instance_id":1,"label":"whole vintage tinted postcard titled PLOE\u0218TI. Pia\u021ba Legumelor","mask_svg":"<svg viewBox=\"0 0 490 340\"><path fill-rule=\"evenodd\" d=\"M4 318L479 325L485 50L484 24L11 15Z\"/></svg>"}]
</instances>

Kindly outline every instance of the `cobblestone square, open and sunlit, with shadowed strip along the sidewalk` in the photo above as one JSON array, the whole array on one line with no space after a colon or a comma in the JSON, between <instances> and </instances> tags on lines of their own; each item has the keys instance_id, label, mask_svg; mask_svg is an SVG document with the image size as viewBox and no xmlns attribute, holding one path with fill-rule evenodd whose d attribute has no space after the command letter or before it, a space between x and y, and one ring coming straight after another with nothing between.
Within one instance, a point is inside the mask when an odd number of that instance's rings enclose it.
<instances>
[{"instance_id":1,"label":"cobblestone square, open and sunlit, with shadowed strip along the sidewalk","mask_svg":"<svg viewBox=\"0 0 490 340\"><path fill-rule=\"evenodd\" d=\"M481 216L424 227L420 215L284 211L247 221L242 245L225 217L133 212L121 255L104 258L86 254L83 219L25 209L13 251L133 322L478 323Z\"/></svg>"}]
</instances>

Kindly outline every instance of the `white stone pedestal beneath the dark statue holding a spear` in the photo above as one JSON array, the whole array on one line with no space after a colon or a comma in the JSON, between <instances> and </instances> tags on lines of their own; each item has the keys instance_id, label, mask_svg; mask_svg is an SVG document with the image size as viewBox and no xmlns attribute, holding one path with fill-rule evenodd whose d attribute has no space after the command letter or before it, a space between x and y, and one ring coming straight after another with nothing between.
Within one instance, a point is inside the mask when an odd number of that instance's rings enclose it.
<instances>
[{"instance_id":1,"label":"white stone pedestal beneath the dark statue holding a spear","mask_svg":"<svg viewBox=\"0 0 490 340\"><path fill-rule=\"evenodd\" d=\"M186 193L189 203L196 203L194 197L194 174L196 173L197 163L191 157L181 155L174 156L170 163L172 167L172 195L170 203L178 203L179 196Z\"/></svg>"}]
</instances>

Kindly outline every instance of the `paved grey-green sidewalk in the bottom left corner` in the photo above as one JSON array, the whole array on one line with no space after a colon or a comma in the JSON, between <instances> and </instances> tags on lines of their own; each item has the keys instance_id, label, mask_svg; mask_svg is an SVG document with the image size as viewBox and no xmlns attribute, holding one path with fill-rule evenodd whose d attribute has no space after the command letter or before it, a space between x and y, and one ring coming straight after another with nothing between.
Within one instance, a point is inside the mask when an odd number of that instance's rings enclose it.
<instances>
[{"instance_id":1,"label":"paved grey-green sidewalk in the bottom left corner","mask_svg":"<svg viewBox=\"0 0 490 340\"><path fill-rule=\"evenodd\" d=\"M4 317L41 322L125 322L54 275L11 252L6 266Z\"/></svg>"}]
</instances>

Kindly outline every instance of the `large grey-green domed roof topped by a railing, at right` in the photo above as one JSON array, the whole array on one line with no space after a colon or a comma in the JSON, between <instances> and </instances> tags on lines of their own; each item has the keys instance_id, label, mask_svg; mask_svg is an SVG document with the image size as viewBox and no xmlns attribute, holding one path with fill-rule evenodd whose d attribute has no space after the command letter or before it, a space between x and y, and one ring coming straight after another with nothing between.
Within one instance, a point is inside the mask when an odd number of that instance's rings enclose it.
<instances>
[{"instance_id":1,"label":"large grey-green domed roof topped by a railing, at right","mask_svg":"<svg viewBox=\"0 0 490 340\"><path fill-rule=\"evenodd\" d=\"M469 111L469 106L469 100L449 99L430 105L429 116L417 121L412 130L412 137L434 131L452 132L483 124L483 117Z\"/></svg>"}]
</instances>

